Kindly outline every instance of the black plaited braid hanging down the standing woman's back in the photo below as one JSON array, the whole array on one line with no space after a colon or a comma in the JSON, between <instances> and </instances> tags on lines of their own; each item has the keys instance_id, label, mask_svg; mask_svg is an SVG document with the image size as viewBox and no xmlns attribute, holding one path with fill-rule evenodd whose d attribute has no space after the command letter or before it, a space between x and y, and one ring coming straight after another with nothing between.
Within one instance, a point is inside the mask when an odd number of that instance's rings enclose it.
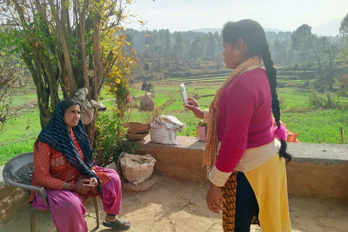
<instances>
[{"instance_id":1,"label":"black plaited braid hanging down the standing woman's back","mask_svg":"<svg viewBox=\"0 0 348 232\"><path fill-rule=\"evenodd\" d=\"M263 51L261 53L261 58L264 63L264 67L266 68L266 74L268 77L269 85L271 87L271 96L272 96L272 112L274 119L277 123L278 128L280 128L280 107L279 107L279 100L278 100L278 94L277 94L277 70L273 66L273 61L271 58L271 52L268 47L267 41L264 43ZM286 152L286 142L284 140L280 141L280 150L279 155L281 157L284 157L286 160L286 163L290 162L292 157L290 154Z\"/></svg>"}]
</instances>

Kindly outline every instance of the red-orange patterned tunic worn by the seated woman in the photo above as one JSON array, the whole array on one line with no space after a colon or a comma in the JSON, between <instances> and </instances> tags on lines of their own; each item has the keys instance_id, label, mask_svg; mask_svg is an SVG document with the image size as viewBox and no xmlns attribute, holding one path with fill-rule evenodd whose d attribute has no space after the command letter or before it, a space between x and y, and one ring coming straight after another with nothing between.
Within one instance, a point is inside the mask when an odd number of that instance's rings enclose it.
<instances>
[{"instance_id":1,"label":"red-orange patterned tunic worn by the seated woman","mask_svg":"<svg viewBox=\"0 0 348 232\"><path fill-rule=\"evenodd\" d=\"M75 146L80 154L82 160L84 160L84 154L81 151L80 144L77 142L73 131L71 130L71 136L75 143ZM38 149L36 149L36 143L38 143ZM78 170L72 167L67 161L65 156L58 151L55 151L47 143L36 141L34 144L34 173L31 179L33 186L44 187L47 189L63 189L65 183L77 183L81 179L89 179L87 176L82 176ZM97 167L93 167L97 176L100 179L101 186L103 187L111 179L107 174L103 173ZM82 199L96 196L96 191L88 192L87 194L80 195ZM34 198L34 192L30 194L29 203Z\"/></svg>"}]
</instances>

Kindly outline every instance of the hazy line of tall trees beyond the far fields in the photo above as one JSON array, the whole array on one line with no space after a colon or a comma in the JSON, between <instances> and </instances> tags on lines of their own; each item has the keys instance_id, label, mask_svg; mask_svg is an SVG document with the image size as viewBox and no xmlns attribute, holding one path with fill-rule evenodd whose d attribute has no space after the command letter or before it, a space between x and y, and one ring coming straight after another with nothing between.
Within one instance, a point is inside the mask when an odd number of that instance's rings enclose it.
<instances>
[{"instance_id":1,"label":"hazy line of tall trees beyond the far fields","mask_svg":"<svg viewBox=\"0 0 348 232\"><path fill-rule=\"evenodd\" d=\"M217 69L223 66L222 34L217 31L126 29L125 35L131 46L142 54L136 76L153 76L168 70L177 72L180 67L187 70L205 61L213 62ZM341 23L339 34L334 37L313 34L311 26L306 24L293 32L267 31L266 37L275 65L292 70L314 70L317 85L329 90L342 76L343 66L338 61L345 62L348 57L348 14Z\"/></svg>"}]
</instances>

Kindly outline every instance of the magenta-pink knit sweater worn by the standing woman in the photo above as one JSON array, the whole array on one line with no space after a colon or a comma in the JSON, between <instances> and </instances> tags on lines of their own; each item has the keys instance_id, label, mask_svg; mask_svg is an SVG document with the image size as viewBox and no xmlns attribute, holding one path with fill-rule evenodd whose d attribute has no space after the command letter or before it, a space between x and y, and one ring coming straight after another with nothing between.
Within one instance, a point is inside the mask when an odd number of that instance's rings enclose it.
<instances>
[{"instance_id":1,"label":"magenta-pink knit sweater worn by the standing woman","mask_svg":"<svg viewBox=\"0 0 348 232\"><path fill-rule=\"evenodd\" d=\"M233 171L247 148L274 140L271 102L264 69L240 74L223 90L217 130L221 142L215 165L218 170Z\"/></svg>"}]
</instances>

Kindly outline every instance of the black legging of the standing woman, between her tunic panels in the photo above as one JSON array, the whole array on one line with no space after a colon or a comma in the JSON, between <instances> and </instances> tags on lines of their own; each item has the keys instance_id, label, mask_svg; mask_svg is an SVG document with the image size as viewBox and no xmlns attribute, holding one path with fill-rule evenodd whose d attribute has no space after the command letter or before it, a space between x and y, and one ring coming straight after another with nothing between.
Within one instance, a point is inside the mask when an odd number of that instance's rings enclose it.
<instances>
[{"instance_id":1,"label":"black legging of the standing woman, between her tunic panels","mask_svg":"<svg viewBox=\"0 0 348 232\"><path fill-rule=\"evenodd\" d=\"M254 217L258 219L259 204L255 193L241 171L237 174L235 232L250 232Z\"/></svg>"}]
</instances>

